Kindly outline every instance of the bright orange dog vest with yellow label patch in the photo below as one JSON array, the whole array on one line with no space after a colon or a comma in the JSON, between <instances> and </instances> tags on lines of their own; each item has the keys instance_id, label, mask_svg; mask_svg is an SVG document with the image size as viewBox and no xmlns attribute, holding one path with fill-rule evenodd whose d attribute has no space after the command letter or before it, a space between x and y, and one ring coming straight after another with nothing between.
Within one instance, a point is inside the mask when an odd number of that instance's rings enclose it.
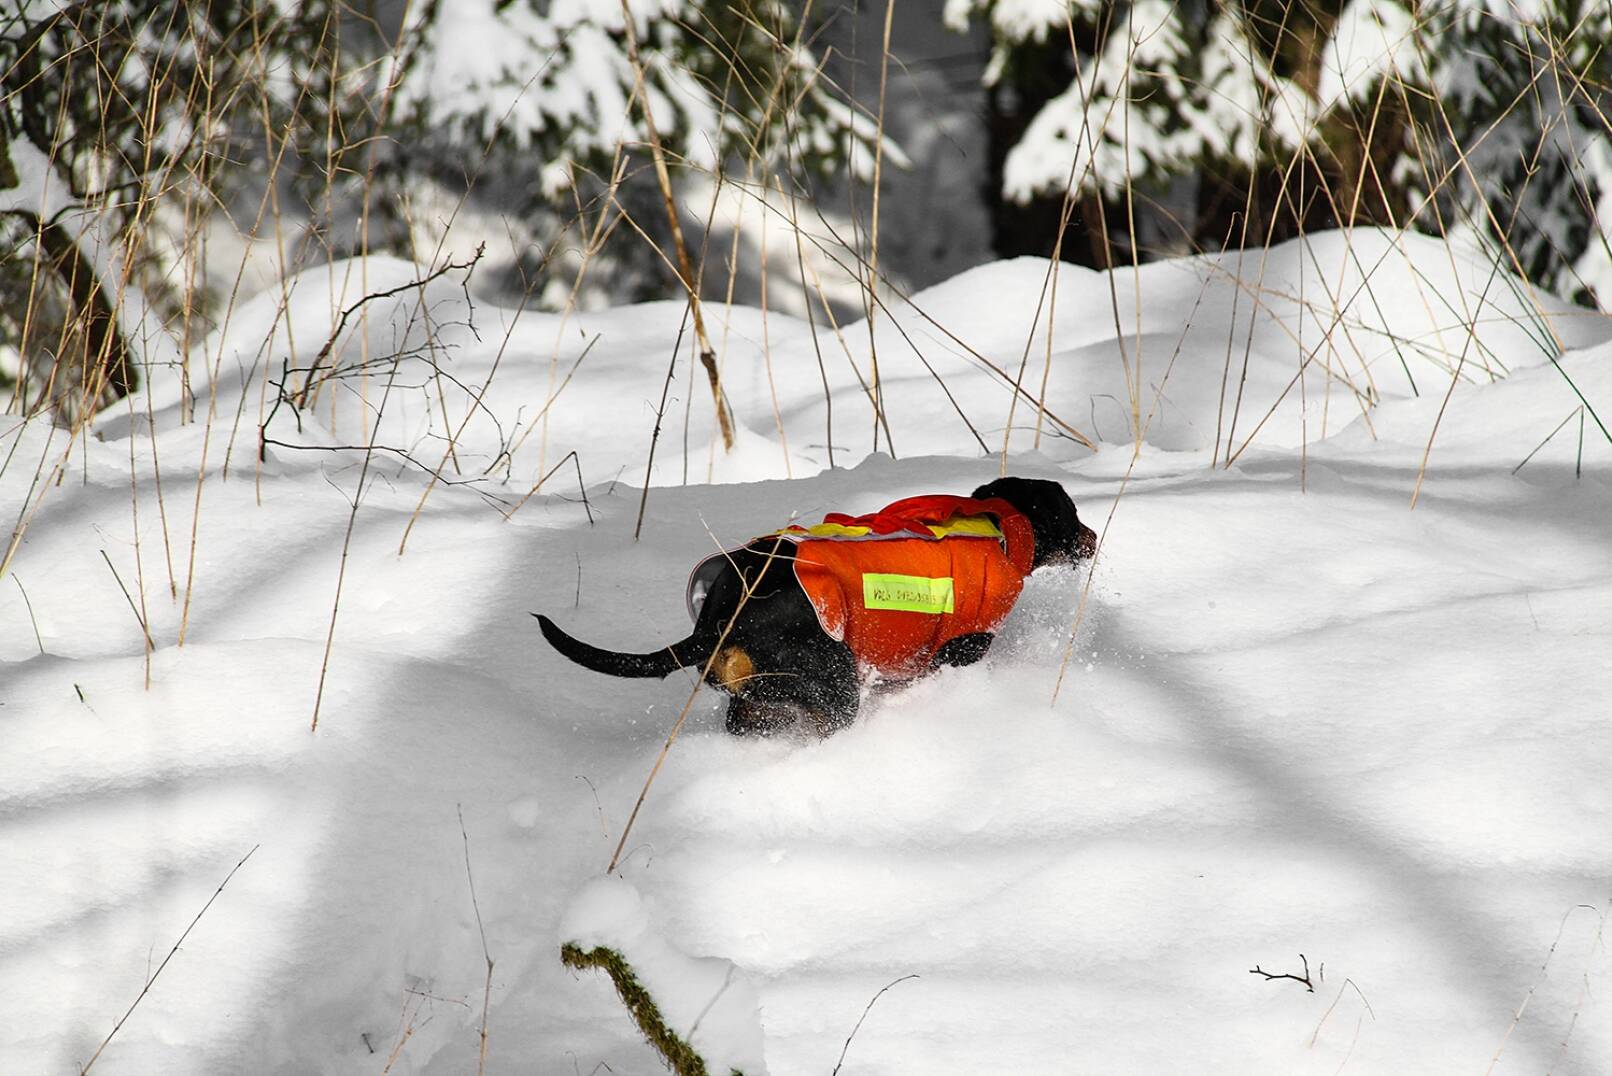
<instances>
[{"instance_id":1,"label":"bright orange dog vest with yellow label patch","mask_svg":"<svg viewBox=\"0 0 1612 1076\"><path fill-rule=\"evenodd\" d=\"M779 534L822 629L864 674L893 678L927 671L958 636L996 631L1035 557L1030 521L1001 498L909 497Z\"/></svg>"}]
</instances>

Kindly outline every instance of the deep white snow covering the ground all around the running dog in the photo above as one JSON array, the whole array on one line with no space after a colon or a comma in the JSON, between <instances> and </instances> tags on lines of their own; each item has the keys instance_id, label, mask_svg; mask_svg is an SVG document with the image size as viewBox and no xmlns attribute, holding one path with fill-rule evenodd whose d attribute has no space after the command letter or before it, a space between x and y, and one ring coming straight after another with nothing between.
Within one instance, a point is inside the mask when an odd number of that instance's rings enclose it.
<instances>
[{"instance_id":1,"label":"deep white snow covering the ground all around the running dog","mask_svg":"<svg viewBox=\"0 0 1612 1076\"><path fill-rule=\"evenodd\" d=\"M1612 1068L1578 395L1612 415L1612 323L1362 231L1062 266L1048 342L1048 269L888 297L896 458L866 324L817 324L819 368L806 323L708 308L738 445L685 334L646 466L680 307L517 318L384 260L237 308L195 423L158 369L93 436L0 429L0 1068L77 1071L148 986L93 1073L474 1071L484 929L488 1073L661 1071L563 940L775 1076ZM1037 440L1043 365L1099 452ZM587 503L571 463L522 502L571 452ZM604 876L692 686L571 666L529 611L650 649L704 552L1003 466L1066 484L1095 566L827 740L729 737L700 692ZM1314 992L1249 974L1301 953Z\"/></svg>"}]
</instances>

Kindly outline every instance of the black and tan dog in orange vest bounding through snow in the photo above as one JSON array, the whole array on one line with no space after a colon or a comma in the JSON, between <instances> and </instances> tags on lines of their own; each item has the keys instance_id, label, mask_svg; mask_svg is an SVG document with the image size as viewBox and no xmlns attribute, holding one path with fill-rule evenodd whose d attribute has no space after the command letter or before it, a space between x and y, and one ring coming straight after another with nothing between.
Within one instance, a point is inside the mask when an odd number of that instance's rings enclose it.
<instances>
[{"instance_id":1,"label":"black and tan dog in orange vest bounding through snow","mask_svg":"<svg viewBox=\"0 0 1612 1076\"><path fill-rule=\"evenodd\" d=\"M967 498L833 515L708 558L690 579L695 629L663 650L601 650L534 616L559 653L598 673L701 668L730 694L729 732L798 719L830 732L856 716L875 674L911 679L978 661L1030 571L1095 550L1062 486L1004 478Z\"/></svg>"}]
</instances>

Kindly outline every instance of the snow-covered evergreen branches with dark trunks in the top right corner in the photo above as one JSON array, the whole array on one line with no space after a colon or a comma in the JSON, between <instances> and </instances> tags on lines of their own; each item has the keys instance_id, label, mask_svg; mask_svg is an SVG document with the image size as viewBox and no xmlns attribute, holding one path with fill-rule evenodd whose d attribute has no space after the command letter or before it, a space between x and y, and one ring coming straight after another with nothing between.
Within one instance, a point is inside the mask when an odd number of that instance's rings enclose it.
<instances>
[{"instance_id":1,"label":"snow-covered evergreen branches with dark trunks in the top right corner","mask_svg":"<svg viewBox=\"0 0 1612 1076\"><path fill-rule=\"evenodd\" d=\"M954 29L977 18L987 87L1020 110L999 169L1011 202L1103 198L1120 242L1140 211L1211 248L1243 215L1248 242L1354 223L1467 232L1507 268L1612 302L1612 5L948 0Z\"/></svg>"}]
</instances>

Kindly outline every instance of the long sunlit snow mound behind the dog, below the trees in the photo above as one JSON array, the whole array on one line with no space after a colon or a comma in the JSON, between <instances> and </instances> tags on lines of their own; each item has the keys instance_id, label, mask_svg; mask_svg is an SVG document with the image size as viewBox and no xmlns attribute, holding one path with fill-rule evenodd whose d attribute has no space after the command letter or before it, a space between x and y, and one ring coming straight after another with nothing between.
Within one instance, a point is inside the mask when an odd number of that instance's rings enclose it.
<instances>
[{"instance_id":1,"label":"long sunlit snow mound behind the dog, below the trees","mask_svg":"<svg viewBox=\"0 0 1612 1076\"><path fill-rule=\"evenodd\" d=\"M226 416L232 452L260 429L271 453L376 431L393 458L511 497L545 476L574 487L569 466L550 474L569 453L584 484L795 478L880 448L1074 461L1083 440L1130 445L1138 429L1159 448L1240 453L1320 444L1394 400L1441 398L1451 379L1501 381L1612 339L1607 316L1410 232L1053 269L1017 258L891 295L872 331L711 307L727 452L679 303L538 315L472 302L453 273L345 261L253 297L192 360L189 395L153 379L150 403L103 432L166 429L195 407Z\"/></svg>"}]
</instances>

